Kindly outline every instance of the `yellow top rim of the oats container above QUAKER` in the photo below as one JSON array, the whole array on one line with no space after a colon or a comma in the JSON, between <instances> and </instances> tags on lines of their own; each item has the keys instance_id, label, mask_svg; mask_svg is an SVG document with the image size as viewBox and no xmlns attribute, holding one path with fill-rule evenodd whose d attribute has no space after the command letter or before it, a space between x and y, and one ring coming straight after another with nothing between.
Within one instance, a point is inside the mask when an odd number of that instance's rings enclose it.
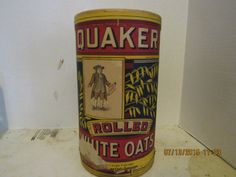
<instances>
[{"instance_id":1,"label":"yellow top rim of the oats container above QUAKER","mask_svg":"<svg viewBox=\"0 0 236 177\"><path fill-rule=\"evenodd\" d=\"M147 21L153 21L161 24L161 16L145 11L136 9L94 9L80 12L75 15L75 24L92 19L142 19Z\"/></svg>"}]
</instances>

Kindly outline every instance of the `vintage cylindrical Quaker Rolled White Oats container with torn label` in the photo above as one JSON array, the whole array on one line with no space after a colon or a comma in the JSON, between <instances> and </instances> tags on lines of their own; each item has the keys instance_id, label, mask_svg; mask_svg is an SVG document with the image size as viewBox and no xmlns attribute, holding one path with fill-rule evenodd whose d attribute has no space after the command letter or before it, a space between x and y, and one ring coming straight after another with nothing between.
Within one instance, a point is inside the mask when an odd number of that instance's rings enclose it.
<instances>
[{"instance_id":1,"label":"vintage cylindrical Quaker Rolled White Oats container with torn label","mask_svg":"<svg viewBox=\"0 0 236 177\"><path fill-rule=\"evenodd\" d=\"M139 176L153 163L161 17L102 9L75 16L79 137L97 176Z\"/></svg>"}]
</instances>

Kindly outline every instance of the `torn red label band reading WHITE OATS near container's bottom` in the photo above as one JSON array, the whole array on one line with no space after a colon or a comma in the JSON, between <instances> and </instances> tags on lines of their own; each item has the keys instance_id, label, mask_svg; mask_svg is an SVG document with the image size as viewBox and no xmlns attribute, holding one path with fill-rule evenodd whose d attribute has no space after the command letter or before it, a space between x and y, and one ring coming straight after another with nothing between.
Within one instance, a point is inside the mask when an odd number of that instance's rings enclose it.
<instances>
[{"instance_id":1,"label":"torn red label band reading WHITE OATS near container's bottom","mask_svg":"<svg viewBox=\"0 0 236 177\"><path fill-rule=\"evenodd\" d=\"M92 137L80 128L80 139L92 144L98 155L107 162L136 160L150 153L154 148L154 131L144 135Z\"/></svg>"}]
</instances>

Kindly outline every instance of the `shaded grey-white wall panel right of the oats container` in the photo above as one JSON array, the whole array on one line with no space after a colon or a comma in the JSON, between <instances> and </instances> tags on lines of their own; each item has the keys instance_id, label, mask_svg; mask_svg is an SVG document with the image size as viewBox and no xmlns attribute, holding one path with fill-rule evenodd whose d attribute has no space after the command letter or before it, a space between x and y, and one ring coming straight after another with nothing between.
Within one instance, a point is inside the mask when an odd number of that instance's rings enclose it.
<instances>
[{"instance_id":1,"label":"shaded grey-white wall panel right of the oats container","mask_svg":"<svg viewBox=\"0 0 236 177\"><path fill-rule=\"evenodd\" d=\"M180 123L236 167L235 17L235 0L189 0Z\"/></svg>"}]
</instances>

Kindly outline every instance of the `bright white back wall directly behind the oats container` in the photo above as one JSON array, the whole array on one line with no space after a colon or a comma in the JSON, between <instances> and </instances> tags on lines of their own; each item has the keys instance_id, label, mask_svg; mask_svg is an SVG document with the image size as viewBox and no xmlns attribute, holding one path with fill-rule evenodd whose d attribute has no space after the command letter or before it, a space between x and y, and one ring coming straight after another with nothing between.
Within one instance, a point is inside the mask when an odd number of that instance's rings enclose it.
<instances>
[{"instance_id":1,"label":"bright white back wall directly behind the oats container","mask_svg":"<svg viewBox=\"0 0 236 177\"><path fill-rule=\"evenodd\" d=\"M177 124L187 7L187 0L1 0L0 87L9 128L77 126L73 20L94 8L162 16L158 122ZM60 58L65 61L58 70Z\"/></svg>"}]
</instances>

